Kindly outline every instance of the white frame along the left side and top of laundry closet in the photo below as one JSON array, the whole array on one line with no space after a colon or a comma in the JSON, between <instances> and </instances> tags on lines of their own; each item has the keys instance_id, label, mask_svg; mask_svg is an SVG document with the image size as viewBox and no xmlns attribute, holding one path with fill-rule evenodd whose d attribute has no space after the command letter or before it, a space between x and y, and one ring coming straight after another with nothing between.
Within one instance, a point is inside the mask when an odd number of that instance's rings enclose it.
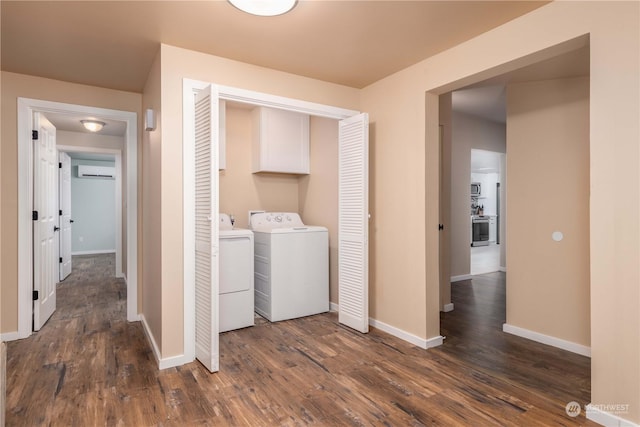
<instances>
[{"instance_id":1,"label":"white frame along the left side and top of laundry closet","mask_svg":"<svg viewBox=\"0 0 640 427\"><path fill-rule=\"evenodd\" d=\"M182 81L182 138L183 138L183 170L190 170L191 165L195 161L195 147L193 144L188 144L187 141L191 141L194 135L194 121L195 121L195 106L194 96L195 94L204 89L205 87L213 85L218 89L218 97L220 100L235 101L245 104L251 104L261 107L279 108L282 110L293 111L310 116L319 116L336 120L343 120L357 114L360 111L349 110L340 107L334 107L331 105L317 104L314 102L302 101L293 98L286 98L282 96L270 95L262 92L255 92L247 89L239 89L230 86L222 86L211 82L204 82L201 80L183 79ZM184 360L175 360L171 363L171 366L176 366L180 362L190 362L195 360L195 253L186 248L195 247L195 221L194 216L194 204L195 204L195 191L194 191L194 177L192 174L183 174L183 262L184 262ZM170 367L169 365L162 364L162 367Z\"/></svg>"}]
</instances>

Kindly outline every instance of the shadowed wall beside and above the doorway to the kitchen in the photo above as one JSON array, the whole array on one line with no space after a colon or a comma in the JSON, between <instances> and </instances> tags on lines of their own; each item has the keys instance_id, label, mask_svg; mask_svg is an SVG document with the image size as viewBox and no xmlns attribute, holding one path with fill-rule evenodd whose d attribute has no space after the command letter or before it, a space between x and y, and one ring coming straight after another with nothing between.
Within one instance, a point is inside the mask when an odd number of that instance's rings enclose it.
<instances>
[{"instance_id":1,"label":"shadowed wall beside and above the doorway to the kitchen","mask_svg":"<svg viewBox=\"0 0 640 427\"><path fill-rule=\"evenodd\" d=\"M451 276L471 273L471 150L506 151L506 126L454 111L451 153Z\"/></svg>"}]
</instances>

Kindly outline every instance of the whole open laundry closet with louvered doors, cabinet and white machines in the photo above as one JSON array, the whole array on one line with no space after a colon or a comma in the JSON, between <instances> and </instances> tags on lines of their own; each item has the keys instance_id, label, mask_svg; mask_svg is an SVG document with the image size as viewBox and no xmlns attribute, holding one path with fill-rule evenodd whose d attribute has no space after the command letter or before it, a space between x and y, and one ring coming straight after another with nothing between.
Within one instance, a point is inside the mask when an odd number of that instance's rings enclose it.
<instances>
[{"instance_id":1,"label":"whole open laundry closet with louvered doors, cabinet and white machines","mask_svg":"<svg viewBox=\"0 0 640 427\"><path fill-rule=\"evenodd\" d=\"M257 312L277 321L328 311L333 301L338 302L332 308L337 309L340 323L367 332L368 115L204 82L183 83L187 353L210 371L217 371L218 334L236 328L220 322L229 303L226 300L237 297L231 295L236 291L250 295L246 286L227 286L230 282L225 276L229 272L250 268L247 263L244 268L226 264L225 260L236 258L228 257L230 252L225 251L229 232L234 229L253 231L254 282L261 280L260 269L265 266L270 274L264 277L275 277L273 269L279 265L283 277L294 276L287 278L289 285L284 286L285 297L280 300L286 307L297 307L293 295L297 293L304 306L299 313L283 312L269 297L271 306L265 308L256 287ZM282 122L289 113L295 113L293 121ZM293 122L297 125L290 127ZM288 123L284 129L282 123ZM274 126L279 136L308 134L308 145L299 145L296 138L290 144L288 138L279 137L273 144L262 145ZM230 230L223 222L233 222L234 227ZM325 240L312 238L312 233L324 233ZM281 237L276 238L278 234ZM288 244L283 245L282 239ZM236 249L233 253L244 251ZM274 253L279 254L280 261L275 261ZM309 259L320 259L322 253L325 260L317 264L325 265L324 273L306 264ZM261 256L267 261L261 263ZM308 298L308 292L299 288L286 292L293 289L293 284L311 282L310 278L322 274L326 275L324 294ZM272 280L271 284L276 282L281 283ZM267 289L265 283L259 282L259 286ZM273 291L273 287L270 289ZM312 301L320 301L323 306L310 308ZM246 301L240 305L247 307Z\"/></svg>"}]
</instances>

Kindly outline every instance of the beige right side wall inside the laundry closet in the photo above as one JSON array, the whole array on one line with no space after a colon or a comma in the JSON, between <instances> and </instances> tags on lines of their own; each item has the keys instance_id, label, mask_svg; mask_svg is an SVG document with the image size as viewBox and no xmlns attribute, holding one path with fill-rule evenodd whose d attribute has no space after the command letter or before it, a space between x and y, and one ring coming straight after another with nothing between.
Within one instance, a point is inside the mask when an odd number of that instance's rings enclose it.
<instances>
[{"instance_id":1,"label":"beige right side wall inside the laundry closet","mask_svg":"<svg viewBox=\"0 0 640 427\"><path fill-rule=\"evenodd\" d=\"M329 230L329 299L338 304L338 121L312 117L309 125L311 174L300 177L302 221Z\"/></svg>"}]
</instances>

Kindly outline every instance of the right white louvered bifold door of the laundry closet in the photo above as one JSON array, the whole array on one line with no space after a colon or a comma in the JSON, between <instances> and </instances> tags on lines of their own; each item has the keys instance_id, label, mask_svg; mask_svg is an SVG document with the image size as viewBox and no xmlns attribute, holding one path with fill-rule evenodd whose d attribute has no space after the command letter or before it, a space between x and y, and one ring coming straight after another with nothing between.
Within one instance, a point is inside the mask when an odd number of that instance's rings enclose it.
<instances>
[{"instance_id":1,"label":"right white louvered bifold door of the laundry closet","mask_svg":"<svg viewBox=\"0 0 640 427\"><path fill-rule=\"evenodd\" d=\"M338 320L369 331L369 117L340 121Z\"/></svg>"}]
</instances>

